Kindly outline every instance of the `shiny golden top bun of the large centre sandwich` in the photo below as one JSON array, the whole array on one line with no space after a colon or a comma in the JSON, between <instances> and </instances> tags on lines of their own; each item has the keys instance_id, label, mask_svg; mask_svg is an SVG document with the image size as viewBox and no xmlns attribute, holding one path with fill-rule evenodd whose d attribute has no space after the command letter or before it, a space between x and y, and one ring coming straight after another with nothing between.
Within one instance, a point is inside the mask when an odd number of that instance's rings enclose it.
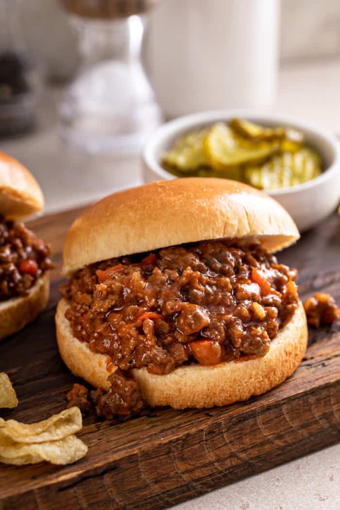
<instances>
[{"instance_id":1,"label":"shiny golden top bun of the large centre sandwich","mask_svg":"<svg viewBox=\"0 0 340 510\"><path fill-rule=\"evenodd\" d=\"M212 177L154 182L103 198L73 222L63 274L175 244L244 237L276 251L300 236L278 202L245 184Z\"/></svg>"}]
</instances>

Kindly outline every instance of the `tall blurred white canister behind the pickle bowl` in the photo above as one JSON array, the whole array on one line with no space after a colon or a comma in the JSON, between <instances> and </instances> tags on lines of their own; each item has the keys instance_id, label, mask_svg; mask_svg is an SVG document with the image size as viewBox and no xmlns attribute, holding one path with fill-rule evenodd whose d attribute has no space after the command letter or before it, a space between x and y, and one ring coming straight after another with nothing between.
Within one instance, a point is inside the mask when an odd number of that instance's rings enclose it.
<instances>
[{"instance_id":1,"label":"tall blurred white canister behind the pickle bowl","mask_svg":"<svg viewBox=\"0 0 340 510\"><path fill-rule=\"evenodd\" d=\"M163 0L145 63L165 116L266 108L276 94L279 0Z\"/></svg>"}]
</instances>

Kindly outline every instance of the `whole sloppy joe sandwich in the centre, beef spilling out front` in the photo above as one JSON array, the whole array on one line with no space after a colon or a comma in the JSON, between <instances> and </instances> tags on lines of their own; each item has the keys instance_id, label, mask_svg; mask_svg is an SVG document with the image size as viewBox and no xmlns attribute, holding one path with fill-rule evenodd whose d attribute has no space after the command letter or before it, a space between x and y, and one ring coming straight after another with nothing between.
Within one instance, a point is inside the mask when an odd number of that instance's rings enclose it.
<instances>
[{"instance_id":1,"label":"whole sloppy joe sandwich in the centre, beef spilling out front","mask_svg":"<svg viewBox=\"0 0 340 510\"><path fill-rule=\"evenodd\" d=\"M77 218L57 339L70 370L98 388L98 414L225 405L290 376L306 317L296 269L273 253L298 238L271 197L214 178L121 191Z\"/></svg>"}]
</instances>

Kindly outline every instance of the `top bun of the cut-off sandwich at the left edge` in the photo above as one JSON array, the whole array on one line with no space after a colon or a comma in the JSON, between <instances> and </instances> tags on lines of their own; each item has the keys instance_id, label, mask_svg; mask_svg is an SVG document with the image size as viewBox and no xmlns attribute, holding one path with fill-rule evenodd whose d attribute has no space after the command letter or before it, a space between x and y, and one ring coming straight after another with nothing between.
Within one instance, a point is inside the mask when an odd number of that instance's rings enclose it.
<instances>
[{"instance_id":1,"label":"top bun of the cut-off sandwich at the left edge","mask_svg":"<svg viewBox=\"0 0 340 510\"><path fill-rule=\"evenodd\" d=\"M43 207L44 197L33 175L16 159L0 152L0 214L19 219Z\"/></svg>"}]
</instances>

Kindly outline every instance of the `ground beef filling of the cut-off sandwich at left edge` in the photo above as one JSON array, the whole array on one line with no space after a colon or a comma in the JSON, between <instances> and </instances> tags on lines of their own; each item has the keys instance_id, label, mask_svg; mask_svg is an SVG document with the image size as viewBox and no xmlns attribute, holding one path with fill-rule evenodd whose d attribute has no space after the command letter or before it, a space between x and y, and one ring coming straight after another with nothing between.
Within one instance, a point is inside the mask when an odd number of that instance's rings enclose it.
<instances>
[{"instance_id":1,"label":"ground beef filling of the cut-off sandwich at left edge","mask_svg":"<svg viewBox=\"0 0 340 510\"><path fill-rule=\"evenodd\" d=\"M27 296L37 279L53 267L50 247L28 230L0 216L0 301Z\"/></svg>"}]
</instances>

